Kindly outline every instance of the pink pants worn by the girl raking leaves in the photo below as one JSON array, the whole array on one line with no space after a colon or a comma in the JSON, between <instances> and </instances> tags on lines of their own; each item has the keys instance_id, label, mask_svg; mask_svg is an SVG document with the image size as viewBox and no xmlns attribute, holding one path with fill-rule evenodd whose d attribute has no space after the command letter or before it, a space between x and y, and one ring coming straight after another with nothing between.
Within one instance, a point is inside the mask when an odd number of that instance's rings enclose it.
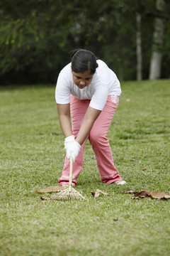
<instances>
[{"instance_id":1,"label":"pink pants worn by the girl raking leaves","mask_svg":"<svg viewBox=\"0 0 170 256\"><path fill-rule=\"evenodd\" d=\"M92 145L94 153L96 155L96 161L98 169L101 174L101 181L105 183L113 183L122 179L118 173L118 170L114 166L113 156L111 147L108 142L108 128L111 125L115 110L118 107L119 97L116 95L108 95L108 100L101 114L98 116L94 125L86 138L84 143L81 145L79 155L73 164L73 186L77 183L77 178L81 173L83 167L83 153L87 139ZM89 107L90 100L79 100L77 97L71 95L70 99L70 110L72 116L72 132L74 137L77 137L79 129L84 119L84 114ZM69 183L69 160L67 156L64 161L64 168L62 170L62 177L58 180L60 185Z\"/></svg>"}]
</instances>

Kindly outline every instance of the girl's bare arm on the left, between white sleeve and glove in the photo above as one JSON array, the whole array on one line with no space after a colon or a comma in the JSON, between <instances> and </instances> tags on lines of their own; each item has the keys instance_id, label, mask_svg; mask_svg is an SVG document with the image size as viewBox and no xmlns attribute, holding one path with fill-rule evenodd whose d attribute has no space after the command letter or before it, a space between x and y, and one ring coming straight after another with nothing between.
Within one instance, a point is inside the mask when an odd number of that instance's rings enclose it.
<instances>
[{"instance_id":1,"label":"girl's bare arm on the left, between white sleeve and glove","mask_svg":"<svg viewBox=\"0 0 170 256\"><path fill-rule=\"evenodd\" d=\"M72 135L72 125L70 122L70 106L69 104L57 104L57 110L60 119L60 126L64 137Z\"/></svg>"}]
</instances>

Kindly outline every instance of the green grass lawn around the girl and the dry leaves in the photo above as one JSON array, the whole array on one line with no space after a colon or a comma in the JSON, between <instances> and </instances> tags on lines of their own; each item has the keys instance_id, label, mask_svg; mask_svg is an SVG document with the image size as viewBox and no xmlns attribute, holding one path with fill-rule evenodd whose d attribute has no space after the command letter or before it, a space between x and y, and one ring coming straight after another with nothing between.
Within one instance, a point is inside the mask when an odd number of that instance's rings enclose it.
<instances>
[{"instance_id":1,"label":"green grass lawn around the girl and the dry leaves","mask_svg":"<svg viewBox=\"0 0 170 256\"><path fill-rule=\"evenodd\" d=\"M126 186L101 183L89 143L77 189L87 201L41 201L57 186L64 137L55 85L0 90L0 255L165 256L170 252L170 201L124 194L169 193L170 80L123 82L108 132ZM110 196L93 198L101 189ZM49 195L45 195L49 196Z\"/></svg>"}]
</instances>

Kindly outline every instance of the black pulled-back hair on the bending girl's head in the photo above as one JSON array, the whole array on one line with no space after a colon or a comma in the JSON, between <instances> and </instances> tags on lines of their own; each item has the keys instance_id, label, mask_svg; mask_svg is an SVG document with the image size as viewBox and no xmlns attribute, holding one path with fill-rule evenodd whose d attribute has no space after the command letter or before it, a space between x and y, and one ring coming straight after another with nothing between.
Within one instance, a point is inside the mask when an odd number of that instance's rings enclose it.
<instances>
[{"instance_id":1,"label":"black pulled-back hair on the bending girl's head","mask_svg":"<svg viewBox=\"0 0 170 256\"><path fill-rule=\"evenodd\" d=\"M89 71L91 75L94 75L98 68L96 62L96 56L90 50L74 50L72 52L72 71L75 73L84 73Z\"/></svg>"}]
</instances>

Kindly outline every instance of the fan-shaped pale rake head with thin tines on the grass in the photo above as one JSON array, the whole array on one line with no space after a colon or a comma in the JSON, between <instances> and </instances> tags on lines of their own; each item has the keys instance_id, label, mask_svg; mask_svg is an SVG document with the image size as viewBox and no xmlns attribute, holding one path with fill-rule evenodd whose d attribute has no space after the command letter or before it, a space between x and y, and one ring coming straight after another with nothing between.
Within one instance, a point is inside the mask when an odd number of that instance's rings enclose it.
<instances>
[{"instance_id":1,"label":"fan-shaped pale rake head with thin tines on the grass","mask_svg":"<svg viewBox=\"0 0 170 256\"><path fill-rule=\"evenodd\" d=\"M86 200L84 196L81 195L78 191L76 191L74 188L72 188L72 191L69 191L70 189L64 189L64 191L61 191L57 193L56 195L53 195L51 197L52 200L59 200L59 201L68 201L68 200Z\"/></svg>"}]
</instances>

